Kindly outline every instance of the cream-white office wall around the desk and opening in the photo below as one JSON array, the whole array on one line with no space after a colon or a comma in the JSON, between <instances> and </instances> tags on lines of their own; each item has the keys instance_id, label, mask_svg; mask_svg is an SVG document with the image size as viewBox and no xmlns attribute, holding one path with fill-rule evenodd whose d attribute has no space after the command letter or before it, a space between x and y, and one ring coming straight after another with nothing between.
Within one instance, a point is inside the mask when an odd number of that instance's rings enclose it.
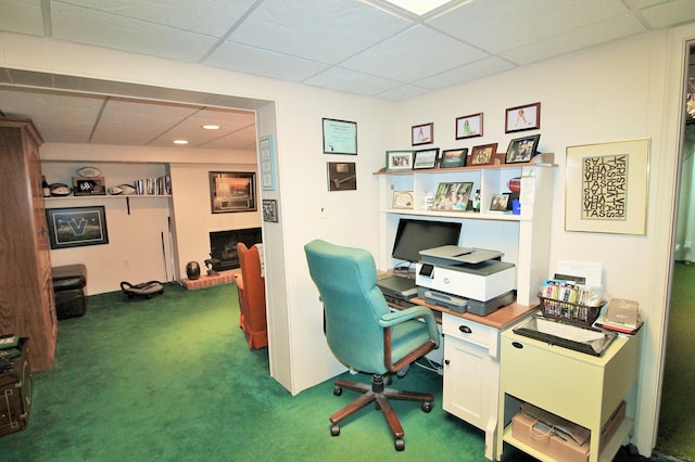
<instances>
[{"instance_id":1,"label":"cream-white office wall around the desk and opening","mask_svg":"<svg viewBox=\"0 0 695 462\"><path fill-rule=\"evenodd\" d=\"M320 305L306 269L302 246L312 239L329 239L377 253L377 180L371 172L383 165L387 149L410 146L410 127L433 121L435 145L442 149L498 142L504 151L504 110L542 103L542 151L556 153L551 267L560 259L599 260L607 291L641 303L647 325L641 364L636 444L652 451L658 418L658 388L668 304L668 278L675 197L677 128L682 92L683 43L695 26L674 33L648 33L442 90L401 103L339 94L271 79L263 79L173 63L147 56L99 50L55 40L0 35L0 64L26 70L65 73L219 92L275 102L280 220L269 245L282 258L273 269L270 297L282 310L288 337L283 356L273 361L285 368L278 380L292 393L340 370L325 347ZM484 113L484 132L475 142L457 142L456 117ZM320 151L321 117L358 124L359 154L329 156ZM273 125L273 123L269 123ZM263 131L260 133L265 134ZM565 150L577 144L649 138L649 203L645 235L566 232L564 229ZM357 163L357 191L329 193L326 162ZM326 207L328 218L319 218ZM265 230L269 226L264 223ZM281 280L280 280L281 279ZM269 307L274 309L274 307ZM289 365L288 365L289 364ZM289 375L289 381L285 375ZM277 377L277 375L274 375Z\"/></svg>"}]
</instances>

